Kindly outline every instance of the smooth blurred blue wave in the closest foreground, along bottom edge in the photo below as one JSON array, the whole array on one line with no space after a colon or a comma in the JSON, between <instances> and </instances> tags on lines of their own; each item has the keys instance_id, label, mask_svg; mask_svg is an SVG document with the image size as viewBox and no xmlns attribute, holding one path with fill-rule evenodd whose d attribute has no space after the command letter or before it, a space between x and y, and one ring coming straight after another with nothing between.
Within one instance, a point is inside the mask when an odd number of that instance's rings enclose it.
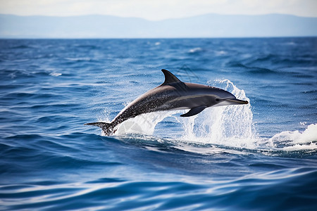
<instances>
[{"instance_id":1,"label":"smooth blurred blue wave in the closest foreground, along bottom edge","mask_svg":"<svg viewBox=\"0 0 317 211\"><path fill-rule=\"evenodd\" d=\"M47 180L44 184L2 185L0 196L1 205L10 210L38 207L46 210L209 210L211 207L278 210L283 207L289 210L299 205L304 210L313 210L316 176L316 167L311 167L203 181L188 181L184 176L179 181L164 177L160 181L107 177L99 182L56 184Z\"/></svg>"}]
</instances>

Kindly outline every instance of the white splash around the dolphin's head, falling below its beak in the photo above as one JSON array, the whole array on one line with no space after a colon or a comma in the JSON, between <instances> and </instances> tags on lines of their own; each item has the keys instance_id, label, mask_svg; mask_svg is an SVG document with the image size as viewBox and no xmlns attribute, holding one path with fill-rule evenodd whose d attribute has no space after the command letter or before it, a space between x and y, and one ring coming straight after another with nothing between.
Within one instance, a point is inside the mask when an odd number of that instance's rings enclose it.
<instances>
[{"instance_id":1,"label":"white splash around the dolphin's head, falling below its beak","mask_svg":"<svg viewBox=\"0 0 317 211\"><path fill-rule=\"evenodd\" d=\"M245 92L237 89L230 80L209 82L215 87L230 91L237 98L249 101ZM250 104L207 108L201 115L178 118L185 134L182 139L225 146L254 148L256 141Z\"/></svg>"}]
</instances>

